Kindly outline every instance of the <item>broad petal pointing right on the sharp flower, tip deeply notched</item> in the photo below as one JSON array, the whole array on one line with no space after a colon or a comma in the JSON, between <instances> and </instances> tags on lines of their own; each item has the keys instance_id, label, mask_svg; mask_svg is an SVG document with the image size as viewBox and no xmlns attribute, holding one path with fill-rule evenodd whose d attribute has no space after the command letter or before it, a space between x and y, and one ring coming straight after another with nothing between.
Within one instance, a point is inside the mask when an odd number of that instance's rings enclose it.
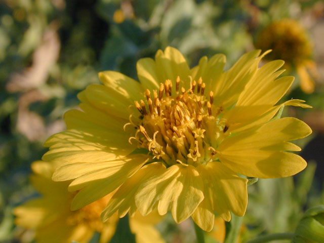
<instances>
[{"instance_id":1,"label":"broad petal pointing right on the sharp flower, tip deeply notched","mask_svg":"<svg viewBox=\"0 0 324 243\"><path fill-rule=\"evenodd\" d=\"M258 129L225 139L217 148L218 157L224 165L242 175L258 178L292 176L303 170L306 162L296 154L282 152L290 147L296 149L284 142L310 133L311 129L296 118L273 120Z\"/></svg>"}]
</instances>

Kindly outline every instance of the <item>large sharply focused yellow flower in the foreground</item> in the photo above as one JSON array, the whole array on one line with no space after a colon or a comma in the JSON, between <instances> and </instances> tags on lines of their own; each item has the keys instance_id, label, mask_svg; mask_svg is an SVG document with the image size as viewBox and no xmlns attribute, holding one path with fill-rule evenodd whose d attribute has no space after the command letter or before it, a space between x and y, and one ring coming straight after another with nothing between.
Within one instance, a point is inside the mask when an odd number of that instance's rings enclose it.
<instances>
[{"instance_id":1,"label":"large sharply focused yellow flower in the foreground","mask_svg":"<svg viewBox=\"0 0 324 243\"><path fill-rule=\"evenodd\" d=\"M283 61L258 68L265 55L252 51L223 71L217 54L189 68L171 47L155 60L140 59L140 83L121 73L99 73L103 85L78 95L80 109L65 113L67 131L50 137L44 160L60 161L53 179L73 180L78 191L72 210L116 190L101 217L138 210L171 211L180 223L192 217L210 231L214 212L243 216L248 193L245 175L277 178L306 167L300 148L288 141L311 133L303 121L271 118L284 105L309 107L301 100L276 105L294 77L276 79ZM145 100L145 101L143 101ZM135 105L134 105L135 104ZM130 142L130 143L129 143Z\"/></svg>"}]
</instances>

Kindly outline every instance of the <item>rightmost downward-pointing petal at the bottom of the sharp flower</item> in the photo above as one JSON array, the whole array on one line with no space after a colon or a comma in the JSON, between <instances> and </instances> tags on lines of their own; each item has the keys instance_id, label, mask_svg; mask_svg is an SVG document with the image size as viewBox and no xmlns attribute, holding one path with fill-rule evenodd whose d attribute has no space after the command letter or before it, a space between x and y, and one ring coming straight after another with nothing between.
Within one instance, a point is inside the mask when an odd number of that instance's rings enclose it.
<instances>
[{"instance_id":1,"label":"rightmost downward-pointing petal at the bottom of the sharp flower","mask_svg":"<svg viewBox=\"0 0 324 243\"><path fill-rule=\"evenodd\" d=\"M220 162L210 162L197 167L204 180L204 195L210 200L213 209L226 221L232 211L237 216L244 216L248 204L247 182Z\"/></svg>"}]
</instances>

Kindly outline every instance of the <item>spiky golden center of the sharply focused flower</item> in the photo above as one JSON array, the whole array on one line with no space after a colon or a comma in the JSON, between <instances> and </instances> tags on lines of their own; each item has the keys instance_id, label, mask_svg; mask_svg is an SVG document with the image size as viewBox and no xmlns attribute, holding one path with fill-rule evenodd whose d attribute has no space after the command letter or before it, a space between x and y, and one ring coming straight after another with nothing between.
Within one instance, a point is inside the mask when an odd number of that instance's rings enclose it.
<instances>
[{"instance_id":1,"label":"spiky golden center of the sharply focused flower","mask_svg":"<svg viewBox=\"0 0 324 243\"><path fill-rule=\"evenodd\" d=\"M135 125L139 148L150 151L153 159L167 166L177 163L198 166L217 159L217 146L227 128L221 117L222 107L214 104L211 91L205 95L205 83L199 78L190 82L190 89L180 87L176 79L175 93L167 79L159 90L146 90L147 106L135 101L141 122Z\"/></svg>"}]
</instances>

